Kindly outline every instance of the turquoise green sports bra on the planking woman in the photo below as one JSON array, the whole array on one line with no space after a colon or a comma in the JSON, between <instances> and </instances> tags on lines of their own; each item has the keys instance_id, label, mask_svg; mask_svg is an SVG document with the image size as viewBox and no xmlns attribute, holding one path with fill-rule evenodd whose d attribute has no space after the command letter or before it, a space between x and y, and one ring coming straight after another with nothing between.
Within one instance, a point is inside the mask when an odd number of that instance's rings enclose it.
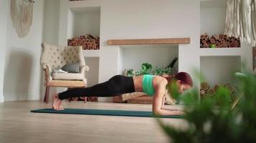
<instances>
[{"instance_id":1,"label":"turquoise green sports bra on the planking woman","mask_svg":"<svg viewBox=\"0 0 256 143\"><path fill-rule=\"evenodd\" d=\"M152 85L153 75L145 74L142 79L143 92L150 95L151 97L155 94L155 89Z\"/></svg>"}]
</instances>

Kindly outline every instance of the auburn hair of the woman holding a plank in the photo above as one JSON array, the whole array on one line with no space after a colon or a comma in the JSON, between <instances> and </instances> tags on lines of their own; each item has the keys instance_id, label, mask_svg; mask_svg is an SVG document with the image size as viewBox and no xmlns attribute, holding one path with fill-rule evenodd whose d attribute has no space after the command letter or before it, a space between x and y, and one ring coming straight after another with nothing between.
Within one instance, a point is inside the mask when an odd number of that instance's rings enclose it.
<instances>
[{"instance_id":1,"label":"auburn hair of the woman holding a plank","mask_svg":"<svg viewBox=\"0 0 256 143\"><path fill-rule=\"evenodd\" d=\"M188 84L191 87L193 87L193 80L191 78L191 75L189 75L186 72L178 72L178 74L175 74L173 76L165 77L168 82L172 82L172 80L180 80L180 84Z\"/></svg>"}]
</instances>

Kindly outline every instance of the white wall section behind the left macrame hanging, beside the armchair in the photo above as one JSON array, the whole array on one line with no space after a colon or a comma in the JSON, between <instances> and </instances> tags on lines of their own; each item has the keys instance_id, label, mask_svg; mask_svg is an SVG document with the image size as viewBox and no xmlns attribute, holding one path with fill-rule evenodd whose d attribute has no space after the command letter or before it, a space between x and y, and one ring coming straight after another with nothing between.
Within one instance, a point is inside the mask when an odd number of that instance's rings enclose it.
<instances>
[{"instance_id":1,"label":"white wall section behind the left macrame hanging, beside the armchair","mask_svg":"<svg viewBox=\"0 0 256 143\"><path fill-rule=\"evenodd\" d=\"M9 5L7 6L9 11ZM40 99L40 55L43 39L44 1L35 1L29 34L19 38L7 13L4 99Z\"/></svg>"}]
</instances>

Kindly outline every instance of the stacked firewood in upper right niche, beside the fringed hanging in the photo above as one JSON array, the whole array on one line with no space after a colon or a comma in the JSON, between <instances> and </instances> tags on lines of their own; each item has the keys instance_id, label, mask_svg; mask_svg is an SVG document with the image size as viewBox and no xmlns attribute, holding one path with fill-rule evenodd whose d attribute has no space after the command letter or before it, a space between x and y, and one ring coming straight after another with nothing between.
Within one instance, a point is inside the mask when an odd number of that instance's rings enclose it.
<instances>
[{"instance_id":1,"label":"stacked firewood in upper right niche, beside the fringed hanging","mask_svg":"<svg viewBox=\"0 0 256 143\"><path fill-rule=\"evenodd\" d=\"M226 34L215 34L209 36L208 34L201 34L200 36L200 48L212 47L240 47L240 39L234 36L227 36Z\"/></svg>"}]
</instances>

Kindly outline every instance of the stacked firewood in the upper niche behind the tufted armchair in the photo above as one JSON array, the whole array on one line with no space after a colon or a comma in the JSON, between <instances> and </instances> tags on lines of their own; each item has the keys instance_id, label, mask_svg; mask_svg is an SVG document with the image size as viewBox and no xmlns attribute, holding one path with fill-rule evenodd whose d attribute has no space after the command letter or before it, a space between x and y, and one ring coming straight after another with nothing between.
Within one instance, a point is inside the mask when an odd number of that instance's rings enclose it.
<instances>
[{"instance_id":1,"label":"stacked firewood in the upper niche behind the tufted armchair","mask_svg":"<svg viewBox=\"0 0 256 143\"><path fill-rule=\"evenodd\" d=\"M68 46L83 46L83 49L99 49L99 37L91 34L77 36L68 39Z\"/></svg>"}]
</instances>

